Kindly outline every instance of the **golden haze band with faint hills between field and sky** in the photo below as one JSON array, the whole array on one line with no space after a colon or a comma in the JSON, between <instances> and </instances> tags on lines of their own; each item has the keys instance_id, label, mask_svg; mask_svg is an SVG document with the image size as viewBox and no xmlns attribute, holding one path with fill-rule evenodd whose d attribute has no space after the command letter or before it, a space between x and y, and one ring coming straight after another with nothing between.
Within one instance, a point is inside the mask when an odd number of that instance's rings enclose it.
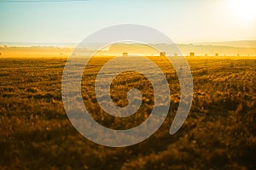
<instances>
[{"instance_id":1,"label":"golden haze band with faint hills between field and sky","mask_svg":"<svg viewBox=\"0 0 256 170\"><path fill-rule=\"evenodd\" d=\"M68 56L72 53L75 43L28 43L28 42L0 42L0 53L5 57L19 57L29 54L28 57L38 57L49 54L50 56ZM150 44L141 43L114 43L102 49L94 48L91 44L84 50L98 50L98 55L121 55L125 52L133 55L159 55L159 51L150 47ZM168 45L161 43L156 47L168 49ZM195 55L208 56L219 54L226 56L256 56L256 41L235 41L235 42L195 42L189 44L177 44L183 55L194 52ZM172 56L174 54L168 54Z\"/></svg>"}]
</instances>

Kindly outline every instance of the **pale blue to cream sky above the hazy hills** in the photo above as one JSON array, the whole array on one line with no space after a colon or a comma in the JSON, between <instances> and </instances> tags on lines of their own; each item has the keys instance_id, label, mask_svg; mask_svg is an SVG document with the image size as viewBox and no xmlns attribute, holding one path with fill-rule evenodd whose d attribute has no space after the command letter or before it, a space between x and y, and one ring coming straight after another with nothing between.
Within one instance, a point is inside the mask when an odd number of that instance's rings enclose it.
<instances>
[{"instance_id":1,"label":"pale blue to cream sky above the hazy hills","mask_svg":"<svg viewBox=\"0 0 256 170\"><path fill-rule=\"evenodd\" d=\"M173 42L256 40L255 0L0 0L0 42L74 42L119 24Z\"/></svg>"}]
</instances>

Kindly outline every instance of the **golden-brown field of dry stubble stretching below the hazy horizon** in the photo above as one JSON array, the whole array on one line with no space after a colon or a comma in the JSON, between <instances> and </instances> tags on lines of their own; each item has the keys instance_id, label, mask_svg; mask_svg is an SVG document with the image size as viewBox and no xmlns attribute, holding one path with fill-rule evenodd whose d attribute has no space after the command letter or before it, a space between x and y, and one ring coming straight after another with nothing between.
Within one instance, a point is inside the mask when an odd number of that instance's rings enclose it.
<instances>
[{"instance_id":1,"label":"golden-brown field of dry stubble stretching below the hazy horizon","mask_svg":"<svg viewBox=\"0 0 256 170\"><path fill-rule=\"evenodd\" d=\"M125 91L138 88L142 108L127 118L104 113L96 103L94 79L109 59L93 58L85 68L84 104L106 127L136 127L153 107L153 89L142 75L122 73L112 83L113 102L127 105ZM169 128L180 98L177 75L166 59L149 59L169 82L169 115L142 143L111 148L85 139L67 118L61 100L67 59L0 58L0 169L255 169L256 58L188 57L193 104L173 135Z\"/></svg>"}]
</instances>

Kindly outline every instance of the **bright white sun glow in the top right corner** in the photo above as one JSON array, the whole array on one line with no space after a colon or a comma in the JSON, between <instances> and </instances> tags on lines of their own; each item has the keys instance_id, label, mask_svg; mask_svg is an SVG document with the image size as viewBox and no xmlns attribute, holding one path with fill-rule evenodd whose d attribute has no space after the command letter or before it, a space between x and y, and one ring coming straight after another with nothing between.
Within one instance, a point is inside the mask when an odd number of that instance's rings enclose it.
<instances>
[{"instance_id":1,"label":"bright white sun glow in the top right corner","mask_svg":"<svg viewBox=\"0 0 256 170\"><path fill-rule=\"evenodd\" d=\"M230 0L232 13L236 14L238 19L247 22L253 22L256 19L256 1L255 0Z\"/></svg>"}]
</instances>

